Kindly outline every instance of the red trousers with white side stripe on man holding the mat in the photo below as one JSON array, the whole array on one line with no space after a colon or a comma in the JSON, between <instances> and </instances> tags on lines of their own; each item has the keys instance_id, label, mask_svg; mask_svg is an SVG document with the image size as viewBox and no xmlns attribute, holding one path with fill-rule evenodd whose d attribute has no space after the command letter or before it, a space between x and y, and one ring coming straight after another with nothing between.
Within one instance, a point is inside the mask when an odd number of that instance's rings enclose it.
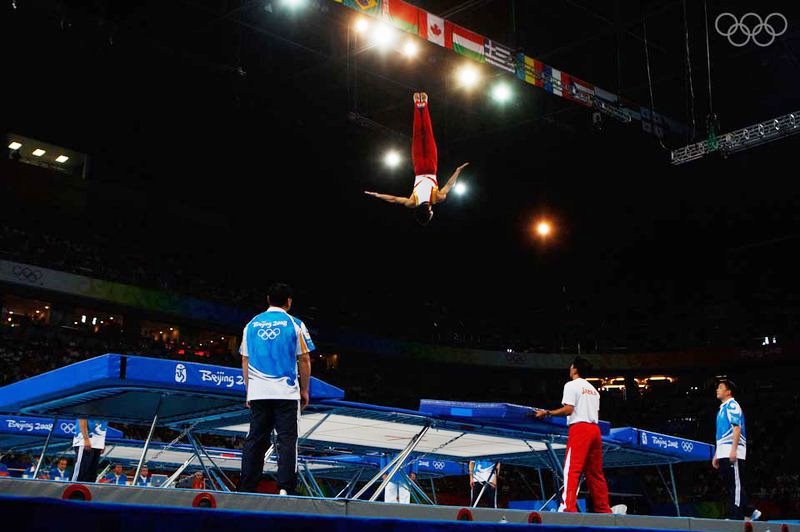
<instances>
[{"instance_id":1,"label":"red trousers with white side stripe on man holding the mat","mask_svg":"<svg viewBox=\"0 0 800 532\"><path fill-rule=\"evenodd\" d=\"M608 485L603 475L603 440L600 427L594 423L575 423L569 427L567 458L564 462L564 493L562 511L577 512L578 483L581 473L586 475L586 484L592 495L594 511L610 514Z\"/></svg>"}]
</instances>

